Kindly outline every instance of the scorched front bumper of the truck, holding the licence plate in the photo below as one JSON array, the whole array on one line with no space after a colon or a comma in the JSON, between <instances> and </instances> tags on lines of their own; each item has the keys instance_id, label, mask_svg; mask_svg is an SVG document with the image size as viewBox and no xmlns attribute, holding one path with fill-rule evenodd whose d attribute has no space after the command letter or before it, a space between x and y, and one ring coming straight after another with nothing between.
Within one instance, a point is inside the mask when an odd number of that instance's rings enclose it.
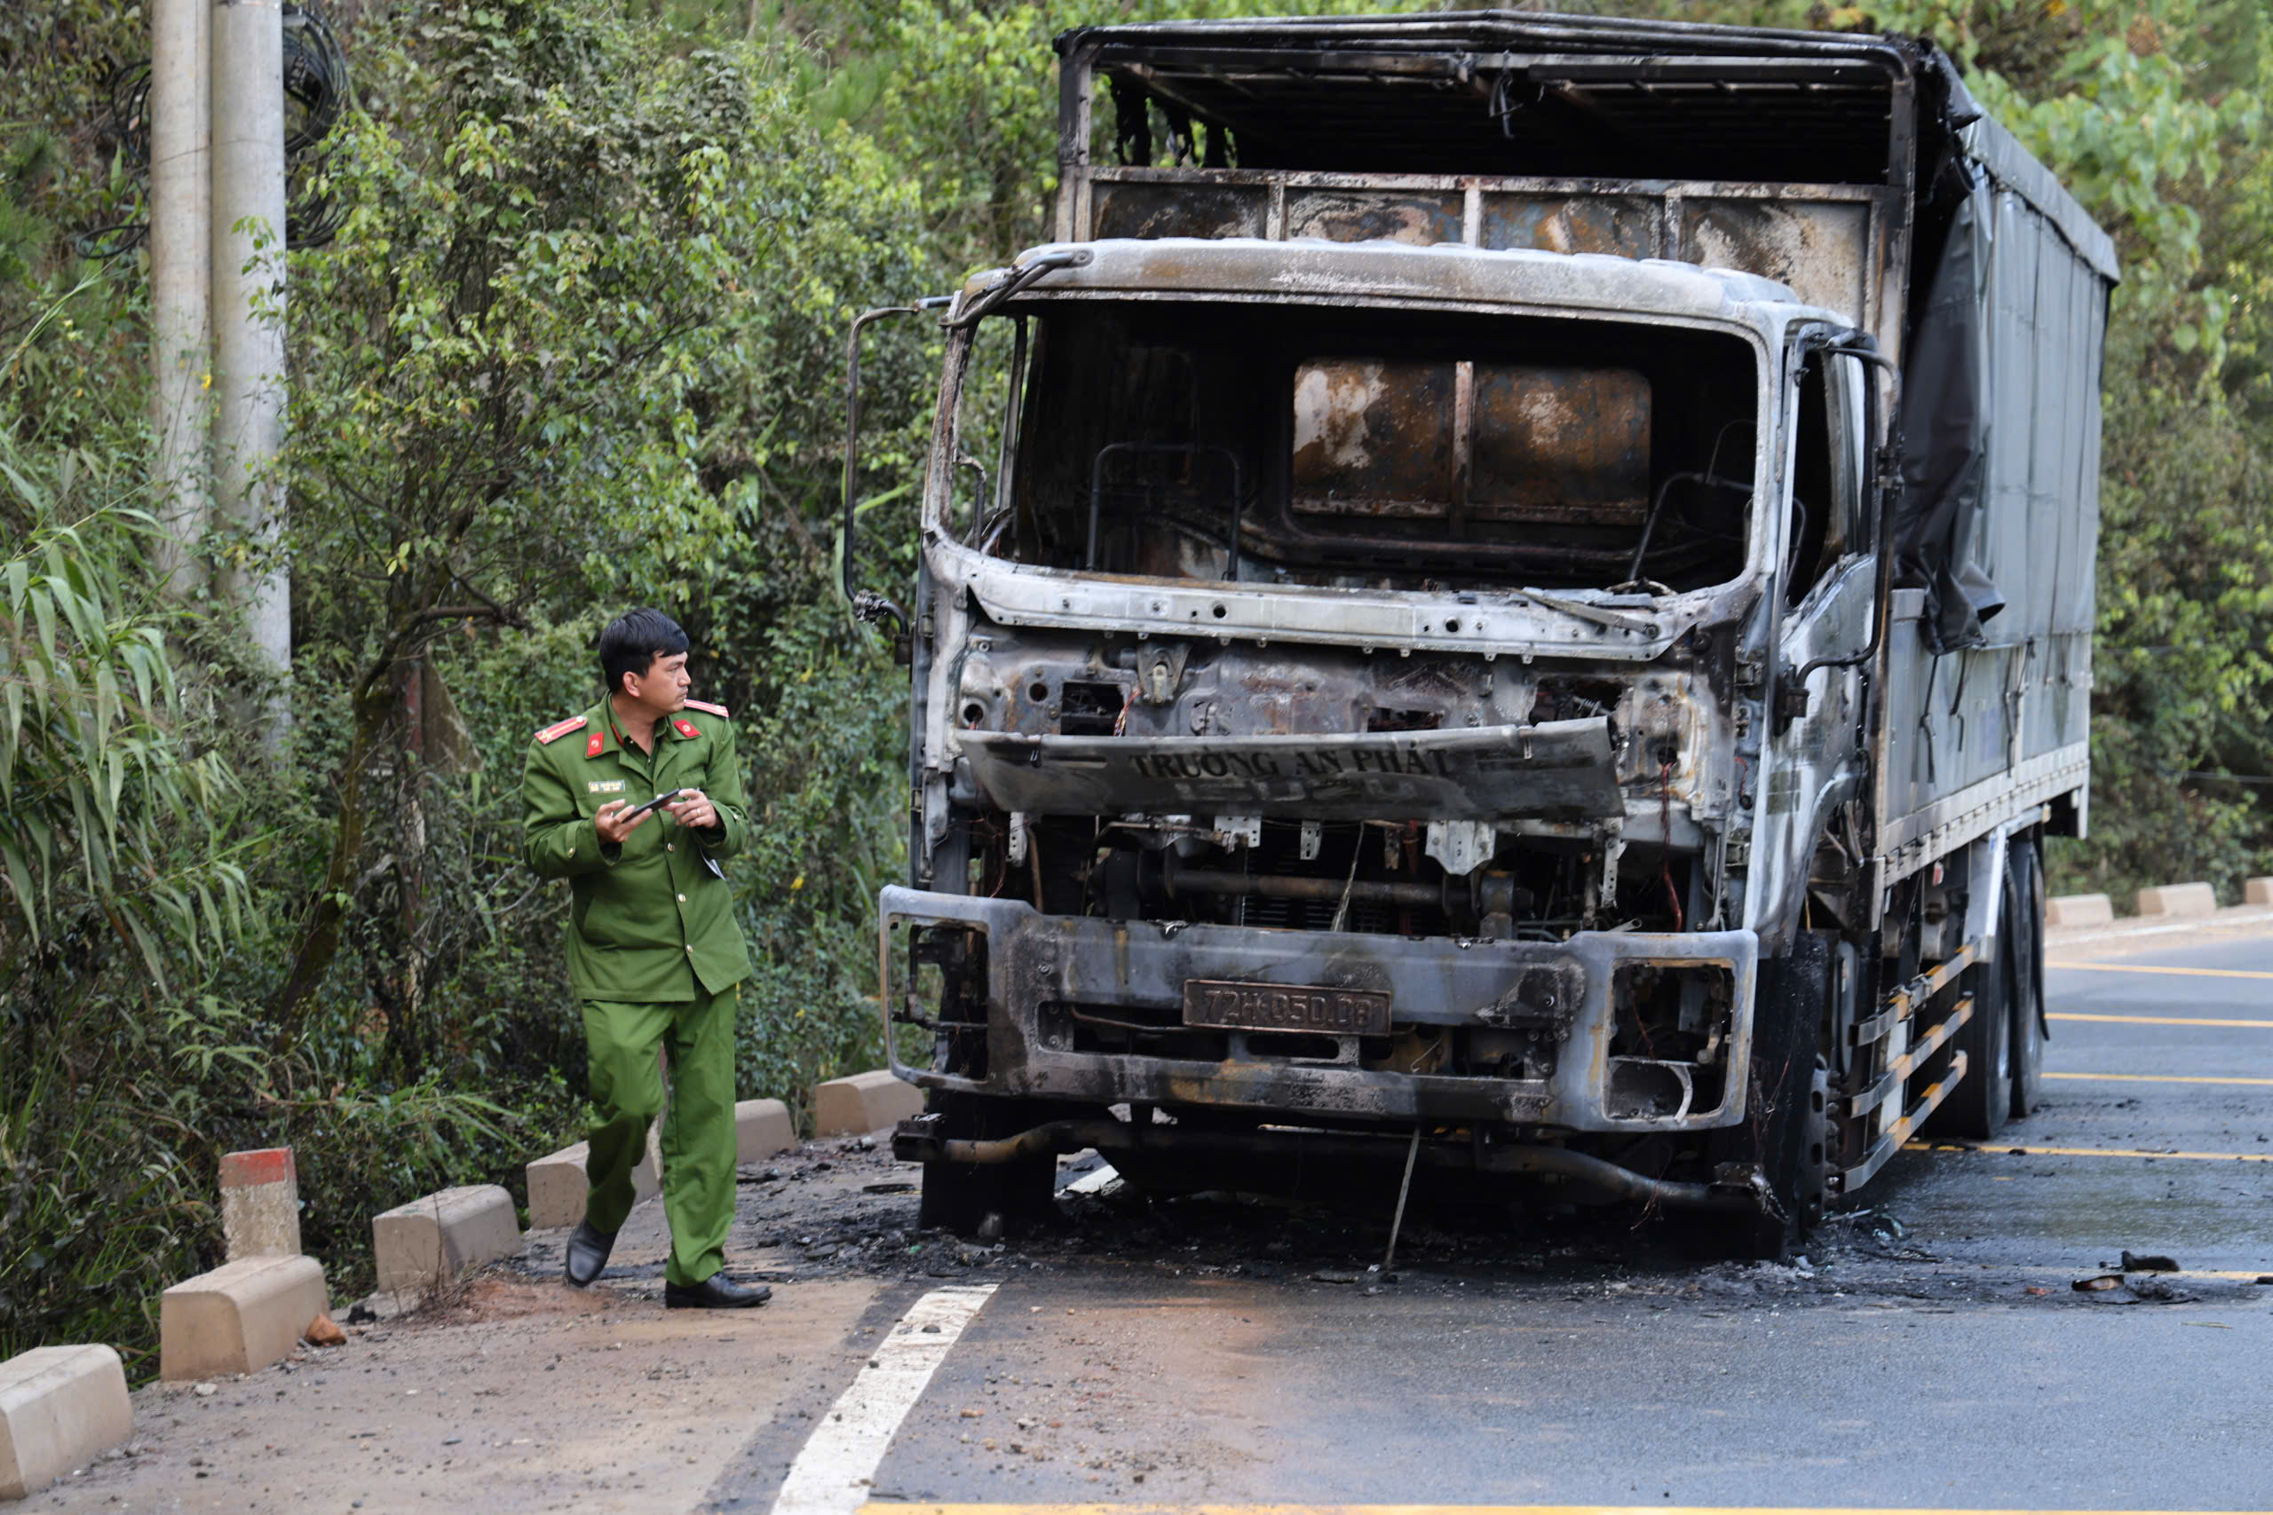
<instances>
[{"instance_id":1,"label":"scorched front bumper of the truck, holding the licence plate","mask_svg":"<svg viewBox=\"0 0 2273 1515\"><path fill-rule=\"evenodd\" d=\"M1698 1131L1743 1118L1752 931L1512 943L1116 922L911 888L880 904L886 1052L923 1088L1352 1124ZM1687 1061L1637 1038L1625 1004L1668 981L1709 984L1691 995L1705 1049ZM1268 1029L1191 1024L1187 984L1255 986L1243 1015ZM1382 995L1387 1031L1346 1024L1346 999ZM902 1061L914 1027L934 1038L923 1065ZM1487 1068L1475 1047L1516 1052Z\"/></svg>"}]
</instances>

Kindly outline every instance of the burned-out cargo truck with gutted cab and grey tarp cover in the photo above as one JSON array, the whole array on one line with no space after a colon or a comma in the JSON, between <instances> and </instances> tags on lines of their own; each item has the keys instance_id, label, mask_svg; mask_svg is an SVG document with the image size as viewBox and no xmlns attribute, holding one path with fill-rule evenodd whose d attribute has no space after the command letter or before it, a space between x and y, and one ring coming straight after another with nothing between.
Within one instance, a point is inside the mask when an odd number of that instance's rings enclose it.
<instances>
[{"instance_id":1,"label":"burned-out cargo truck with gutted cab and grey tarp cover","mask_svg":"<svg viewBox=\"0 0 2273 1515\"><path fill-rule=\"evenodd\" d=\"M1055 241L927 302L914 602L857 595L925 1220L1096 1147L1766 1254L2025 1115L2116 261L1955 66L1509 11L1057 55Z\"/></svg>"}]
</instances>

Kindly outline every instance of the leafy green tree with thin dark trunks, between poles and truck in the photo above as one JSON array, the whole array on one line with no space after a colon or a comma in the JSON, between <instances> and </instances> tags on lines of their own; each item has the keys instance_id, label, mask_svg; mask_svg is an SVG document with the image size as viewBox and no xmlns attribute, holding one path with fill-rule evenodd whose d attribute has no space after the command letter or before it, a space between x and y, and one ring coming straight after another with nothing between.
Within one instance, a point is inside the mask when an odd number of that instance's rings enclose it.
<instances>
[{"instance_id":1,"label":"leafy green tree with thin dark trunks, between poles and truck","mask_svg":"<svg viewBox=\"0 0 2273 1515\"><path fill-rule=\"evenodd\" d=\"M291 552L352 715L273 1008L289 1038L377 865L416 1068L425 652L573 613L625 556L682 572L723 534L686 402L768 250L748 166L793 150L796 118L741 61L659 55L602 5L414 5L396 36L330 186L345 227L293 266Z\"/></svg>"}]
</instances>

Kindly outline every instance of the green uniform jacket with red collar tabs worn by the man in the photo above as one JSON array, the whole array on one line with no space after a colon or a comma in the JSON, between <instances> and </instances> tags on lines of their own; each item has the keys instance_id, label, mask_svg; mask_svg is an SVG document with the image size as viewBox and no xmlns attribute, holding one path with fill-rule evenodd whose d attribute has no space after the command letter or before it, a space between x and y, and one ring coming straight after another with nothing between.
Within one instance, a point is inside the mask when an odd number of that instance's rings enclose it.
<instances>
[{"instance_id":1,"label":"green uniform jacket with red collar tabs worn by the man","mask_svg":"<svg viewBox=\"0 0 2273 1515\"><path fill-rule=\"evenodd\" d=\"M600 845L593 811L666 788L700 788L718 829L689 831L655 811L623 843ZM568 981L577 999L684 1002L750 977L734 890L705 859L741 852L750 815L734 727L716 704L686 702L655 722L652 756L616 740L607 700L546 727L521 772L521 854L543 879L568 879ZM693 974L686 970L693 968Z\"/></svg>"}]
</instances>

